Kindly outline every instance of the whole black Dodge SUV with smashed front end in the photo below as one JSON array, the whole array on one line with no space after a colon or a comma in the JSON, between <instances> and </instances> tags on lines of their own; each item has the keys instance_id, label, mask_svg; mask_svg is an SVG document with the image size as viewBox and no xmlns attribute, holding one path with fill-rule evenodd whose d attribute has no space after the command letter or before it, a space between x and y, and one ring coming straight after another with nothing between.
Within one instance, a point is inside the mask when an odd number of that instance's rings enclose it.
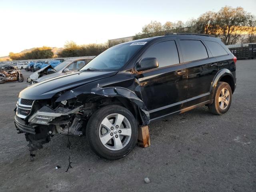
<instances>
[{"instance_id":1,"label":"whole black Dodge SUV with smashed front end","mask_svg":"<svg viewBox=\"0 0 256 192\"><path fill-rule=\"evenodd\" d=\"M236 57L218 38L169 34L109 48L78 72L19 94L15 126L30 150L55 134L86 135L96 154L122 158L138 126L207 105L224 114L236 87Z\"/></svg>"}]
</instances>

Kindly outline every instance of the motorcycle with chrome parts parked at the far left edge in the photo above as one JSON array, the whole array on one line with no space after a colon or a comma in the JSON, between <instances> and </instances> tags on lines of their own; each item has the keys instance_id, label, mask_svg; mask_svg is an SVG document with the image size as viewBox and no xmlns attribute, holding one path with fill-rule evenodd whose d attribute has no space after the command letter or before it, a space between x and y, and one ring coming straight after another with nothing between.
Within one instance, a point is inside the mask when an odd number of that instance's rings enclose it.
<instances>
[{"instance_id":1,"label":"motorcycle with chrome parts parked at the far left edge","mask_svg":"<svg viewBox=\"0 0 256 192\"><path fill-rule=\"evenodd\" d=\"M0 84L8 81L23 82L24 77L20 70L15 66L2 66L0 68Z\"/></svg>"}]
</instances>

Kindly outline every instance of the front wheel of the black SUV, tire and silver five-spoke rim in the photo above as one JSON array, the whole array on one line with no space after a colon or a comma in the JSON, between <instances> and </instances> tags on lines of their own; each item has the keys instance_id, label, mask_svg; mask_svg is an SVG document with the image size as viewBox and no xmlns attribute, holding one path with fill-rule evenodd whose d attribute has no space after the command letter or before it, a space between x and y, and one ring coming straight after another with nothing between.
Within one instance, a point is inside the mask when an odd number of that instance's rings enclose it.
<instances>
[{"instance_id":1,"label":"front wheel of the black SUV, tire and silver five-spoke rim","mask_svg":"<svg viewBox=\"0 0 256 192\"><path fill-rule=\"evenodd\" d=\"M122 123L118 123L120 121L116 120L122 119L122 117L124 117ZM120 127L116 127L116 123L120 124ZM108 126L104 128L103 124L108 124ZM123 136L123 134L128 136ZM90 117L86 127L86 138L98 156L109 160L120 159L126 156L137 142L137 121L132 113L122 106L105 106Z\"/></svg>"}]
</instances>

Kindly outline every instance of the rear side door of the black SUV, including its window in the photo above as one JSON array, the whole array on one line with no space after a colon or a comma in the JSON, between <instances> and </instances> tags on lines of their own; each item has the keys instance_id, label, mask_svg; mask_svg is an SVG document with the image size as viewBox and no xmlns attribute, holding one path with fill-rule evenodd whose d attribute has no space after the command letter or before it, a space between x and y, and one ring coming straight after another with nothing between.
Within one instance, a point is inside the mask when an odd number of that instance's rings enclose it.
<instances>
[{"instance_id":1,"label":"rear side door of the black SUV, including its window","mask_svg":"<svg viewBox=\"0 0 256 192\"><path fill-rule=\"evenodd\" d=\"M218 62L200 38L179 38L188 70L188 106L208 101L210 86L218 72Z\"/></svg>"}]
</instances>

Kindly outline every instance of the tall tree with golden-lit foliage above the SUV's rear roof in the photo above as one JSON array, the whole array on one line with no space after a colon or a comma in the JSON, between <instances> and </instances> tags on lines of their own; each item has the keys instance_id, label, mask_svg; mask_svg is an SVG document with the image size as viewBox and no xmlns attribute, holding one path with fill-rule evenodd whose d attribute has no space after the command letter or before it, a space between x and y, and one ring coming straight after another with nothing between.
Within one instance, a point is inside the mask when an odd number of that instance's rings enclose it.
<instances>
[{"instance_id":1,"label":"tall tree with golden-lit foliage above the SUV's rear roof","mask_svg":"<svg viewBox=\"0 0 256 192\"><path fill-rule=\"evenodd\" d=\"M242 7L232 8L225 6L218 11L216 16L216 34L226 44L234 44L241 36L241 31L246 25L248 15Z\"/></svg>"}]
</instances>

